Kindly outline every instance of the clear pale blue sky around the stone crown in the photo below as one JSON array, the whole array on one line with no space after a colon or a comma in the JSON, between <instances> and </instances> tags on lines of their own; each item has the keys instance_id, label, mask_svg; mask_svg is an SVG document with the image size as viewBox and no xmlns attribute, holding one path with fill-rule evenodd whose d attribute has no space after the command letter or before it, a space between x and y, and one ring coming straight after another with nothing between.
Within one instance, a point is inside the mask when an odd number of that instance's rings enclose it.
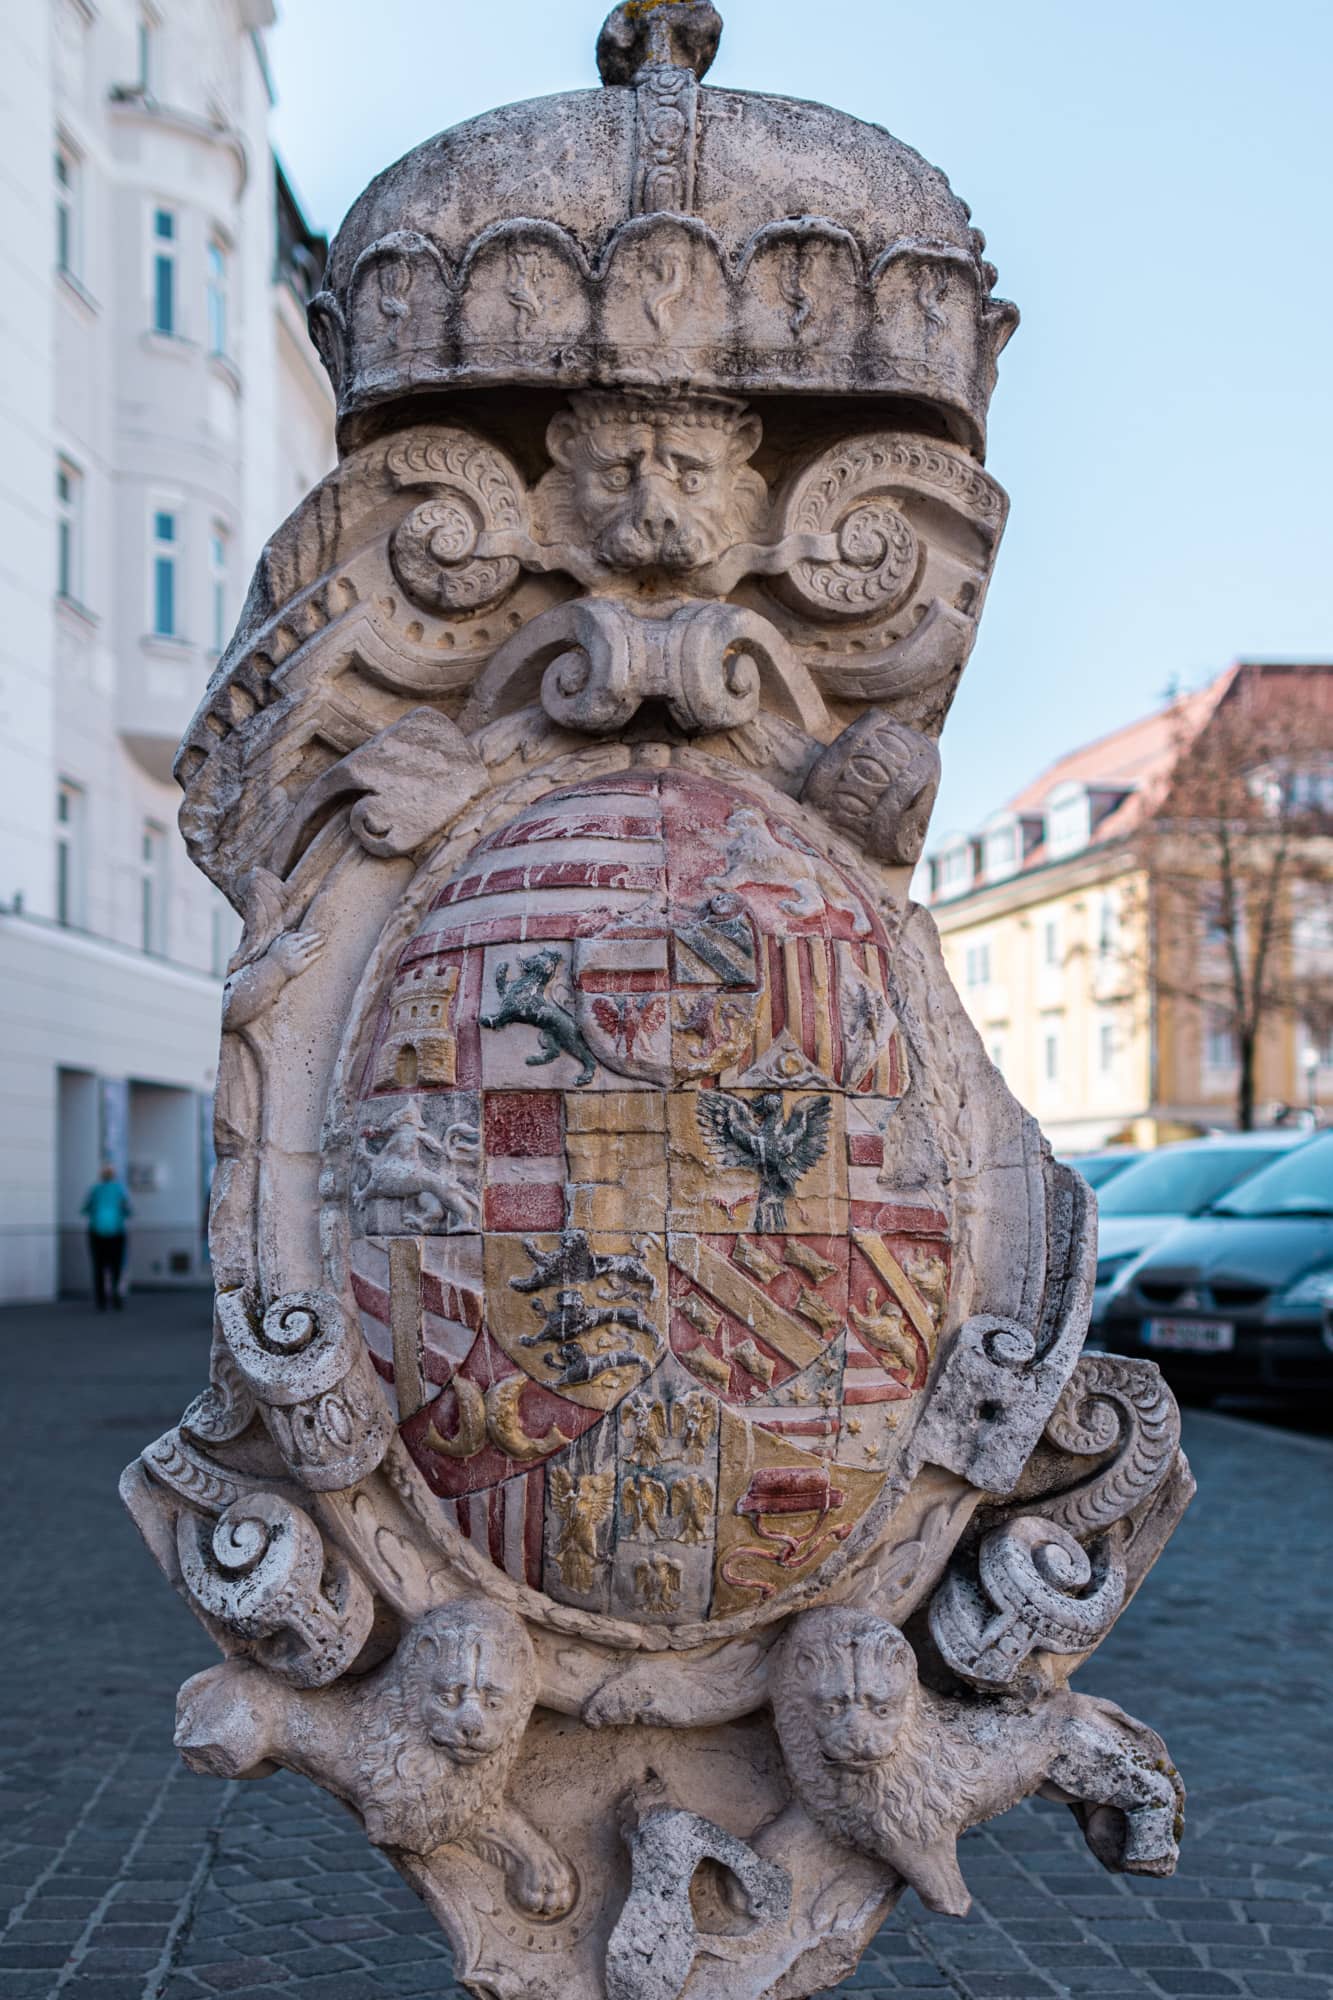
<instances>
[{"instance_id":1,"label":"clear pale blue sky around the stone crown","mask_svg":"<svg viewBox=\"0 0 1333 2000\"><path fill-rule=\"evenodd\" d=\"M1237 658L1333 658L1333 6L719 0L709 82L889 126L973 206L1023 324L1013 512L931 846ZM598 0L278 0L276 144L332 230L390 160L596 84Z\"/></svg>"}]
</instances>

